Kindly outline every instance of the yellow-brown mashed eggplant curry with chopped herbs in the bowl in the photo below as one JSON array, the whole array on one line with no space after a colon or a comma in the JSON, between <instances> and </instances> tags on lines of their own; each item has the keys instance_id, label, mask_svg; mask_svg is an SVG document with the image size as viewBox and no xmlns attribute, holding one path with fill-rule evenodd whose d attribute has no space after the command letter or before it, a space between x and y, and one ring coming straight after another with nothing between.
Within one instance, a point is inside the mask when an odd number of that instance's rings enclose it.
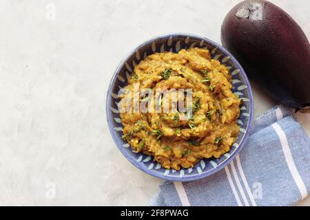
<instances>
[{"instance_id":1,"label":"yellow-brown mashed eggplant curry with chopped herbs in the bowl","mask_svg":"<svg viewBox=\"0 0 310 220\"><path fill-rule=\"evenodd\" d=\"M193 167L202 158L218 158L238 137L240 99L231 91L227 67L212 60L208 50L192 48L147 56L134 68L125 90L136 93L135 84L138 91L149 89L147 96L139 94L139 104L147 102L149 109L155 110L120 113L123 140L134 151L154 156L164 168L179 170ZM172 98L179 89L185 89L185 95ZM155 92L168 90L172 92L165 100ZM123 94L121 101L128 94ZM176 100L191 113L180 112ZM134 108L134 104L120 103L121 107ZM163 110L164 104L173 106L174 111L156 111L158 105Z\"/></svg>"}]
</instances>

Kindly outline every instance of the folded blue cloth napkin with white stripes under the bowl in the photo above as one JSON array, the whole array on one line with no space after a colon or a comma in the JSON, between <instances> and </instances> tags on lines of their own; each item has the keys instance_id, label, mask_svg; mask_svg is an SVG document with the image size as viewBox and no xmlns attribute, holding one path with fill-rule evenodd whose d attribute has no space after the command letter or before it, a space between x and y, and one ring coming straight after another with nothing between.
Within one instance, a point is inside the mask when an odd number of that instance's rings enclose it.
<instances>
[{"instance_id":1,"label":"folded blue cloth napkin with white stripes under the bowl","mask_svg":"<svg viewBox=\"0 0 310 220\"><path fill-rule=\"evenodd\" d=\"M214 175L163 181L149 206L291 206L310 190L310 140L292 109L254 120L239 155Z\"/></svg>"}]
</instances>

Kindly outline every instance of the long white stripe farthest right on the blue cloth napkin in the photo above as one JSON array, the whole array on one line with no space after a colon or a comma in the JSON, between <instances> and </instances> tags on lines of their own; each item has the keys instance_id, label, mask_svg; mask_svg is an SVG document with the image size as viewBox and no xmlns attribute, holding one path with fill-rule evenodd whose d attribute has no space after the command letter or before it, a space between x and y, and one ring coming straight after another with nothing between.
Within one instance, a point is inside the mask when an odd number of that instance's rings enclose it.
<instances>
[{"instance_id":1,"label":"long white stripe farthest right on the blue cloth napkin","mask_svg":"<svg viewBox=\"0 0 310 220\"><path fill-rule=\"evenodd\" d=\"M287 136L285 135L284 131L281 129L280 125L277 122L273 123L272 126L280 138L282 151L285 155L285 160L287 161L287 166L289 166L291 175L293 176L293 179L296 182L296 185L298 186L300 194L302 195L302 199L304 199L308 195L307 188L306 186L304 186L304 182L302 181L302 178L300 177L296 165L293 161L291 150L289 149L289 143L287 142Z\"/></svg>"}]
</instances>

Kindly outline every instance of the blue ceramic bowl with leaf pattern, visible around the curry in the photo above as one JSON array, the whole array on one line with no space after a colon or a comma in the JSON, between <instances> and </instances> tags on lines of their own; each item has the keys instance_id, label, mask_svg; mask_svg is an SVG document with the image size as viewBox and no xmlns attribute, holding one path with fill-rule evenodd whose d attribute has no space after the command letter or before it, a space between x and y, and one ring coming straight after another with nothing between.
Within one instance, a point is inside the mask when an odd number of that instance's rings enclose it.
<instances>
[{"instance_id":1,"label":"blue ceramic bowl with leaf pattern, visible around the curry","mask_svg":"<svg viewBox=\"0 0 310 220\"><path fill-rule=\"evenodd\" d=\"M127 78L132 74L134 67L146 56L154 52L178 52L181 49L190 47L207 47L211 52L212 58L220 61L220 63L229 68L229 72L233 78L234 94L243 100L240 118L238 118L240 134L236 142L231 146L230 151L219 159L201 159L194 168L182 168L178 171L172 169L166 170L160 164L154 162L153 157L143 153L135 153L127 142L121 140L122 124L121 118L118 115L117 103L119 99L116 94L118 94L119 89L127 85ZM106 112L107 123L116 146L134 166L149 175L161 179L167 179L169 181L192 181L216 173L236 157L249 136L249 129L253 118L253 96L244 70L238 61L236 61L236 58L227 52L225 48L209 39L193 34L167 34L150 39L139 45L117 67L107 91Z\"/></svg>"}]
</instances>

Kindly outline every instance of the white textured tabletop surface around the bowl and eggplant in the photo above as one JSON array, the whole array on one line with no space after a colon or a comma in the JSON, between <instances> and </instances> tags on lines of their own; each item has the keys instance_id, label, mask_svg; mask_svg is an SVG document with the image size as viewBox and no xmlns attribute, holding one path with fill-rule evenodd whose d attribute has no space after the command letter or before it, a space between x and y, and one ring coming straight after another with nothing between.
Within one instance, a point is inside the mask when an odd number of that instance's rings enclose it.
<instances>
[{"instance_id":1,"label":"white textured tabletop surface around the bowl and eggplant","mask_svg":"<svg viewBox=\"0 0 310 220\"><path fill-rule=\"evenodd\" d=\"M114 146L105 120L114 69L159 34L220 43L220 25L237 2L1 1L0 205L145 205L160 180ZM272 2L310 37L308 0ZM253 86L259 115L273 101ZM298 118L310 133L310 116Z\"/></svg>"}]
</instances>

